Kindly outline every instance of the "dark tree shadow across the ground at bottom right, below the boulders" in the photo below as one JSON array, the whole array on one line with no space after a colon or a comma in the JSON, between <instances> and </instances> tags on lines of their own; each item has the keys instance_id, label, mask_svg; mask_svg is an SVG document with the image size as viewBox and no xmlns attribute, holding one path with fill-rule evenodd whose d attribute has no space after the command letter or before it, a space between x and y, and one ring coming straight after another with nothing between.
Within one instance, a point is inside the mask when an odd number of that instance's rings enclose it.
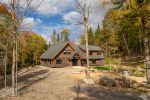
<instances>
[{"instance_id":1,"label":"dark tree shadow across the ground at bottom right, below the boulders","mask_svg":"<svg viewBox=\"0 0 150 100\"><path fill-rule=\"evenodd\" d=\"M71 90L76 92L74 87ZM150 100L150 97L146 94L140 95L135 92L119 91L112 88L81 86L79 97L74 100Z\"/></svg>"}]
</instances>

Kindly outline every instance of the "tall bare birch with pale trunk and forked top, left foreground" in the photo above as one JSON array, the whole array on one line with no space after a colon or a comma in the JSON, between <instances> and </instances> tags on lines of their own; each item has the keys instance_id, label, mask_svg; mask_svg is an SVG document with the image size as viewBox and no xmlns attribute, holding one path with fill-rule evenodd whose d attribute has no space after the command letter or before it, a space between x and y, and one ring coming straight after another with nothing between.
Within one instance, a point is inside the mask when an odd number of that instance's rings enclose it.
<instances>
[{"instance_id":1,"label":"tall bare birch with pale trunk and forked top, left foreground","mask_svg":"<svg viewBox=\"0 0 150 100\"><path fill-rule=\"evenodd\" d=\"M13 50L12 50L12 95L17 95L17 36L24 18L32 11L37 10L44 0L8 0L7 5L9 13L14 22L13 34ZM5 2L3 0L2 2ZM35 5L33 5L33 3Z\"/></svg>"}]
</instances>

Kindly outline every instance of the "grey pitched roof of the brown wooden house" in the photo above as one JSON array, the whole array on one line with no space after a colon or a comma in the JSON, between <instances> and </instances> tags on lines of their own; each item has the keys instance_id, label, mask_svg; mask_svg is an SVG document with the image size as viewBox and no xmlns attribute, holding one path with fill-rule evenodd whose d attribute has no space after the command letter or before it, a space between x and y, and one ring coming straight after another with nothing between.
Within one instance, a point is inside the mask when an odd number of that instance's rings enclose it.
<instances>
[{"instance_id":1,"label":"grey pitched roof of the brown wooden house","mask_svg":"<svg viewBox=\"0 0 150 100\"><path fill-rule=\"evenodd\" d=\"M85 59L86 58L86 48L84 45L76 45L72 42L62 42L56 45L52 45L45 53L42 54L42 56L40 57L40 59L54 59L55 56L67 45L70 44L71 47L73 47L73 49L81 56L81 58ZM98 46L92 46L89 45L89 51L101 51L100 47ZM102 59L102 57L100 57L100 55L98 56L90 56L90 59Z\"/></svg>"}]
</instances>

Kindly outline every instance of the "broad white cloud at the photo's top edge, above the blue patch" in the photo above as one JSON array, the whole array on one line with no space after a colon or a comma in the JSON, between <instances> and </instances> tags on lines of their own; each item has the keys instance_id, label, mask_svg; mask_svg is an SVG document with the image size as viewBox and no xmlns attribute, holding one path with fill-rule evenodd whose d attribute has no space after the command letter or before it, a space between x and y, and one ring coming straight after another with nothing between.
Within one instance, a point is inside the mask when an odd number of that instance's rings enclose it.
<instances>
[{"instance_id":1,"label":"broad white cloud at the photo's top edge, above the blue patch","mask_svg":"<svg viewBox=\"0 0 150 100\"><path fill-rule=\"evenodd\" d=\"M37 1L33 2L36 5ZM74 0L45 0L37 9L41 15L57 15L66 12L74 7Z\"/></svg>"}]
</instances>

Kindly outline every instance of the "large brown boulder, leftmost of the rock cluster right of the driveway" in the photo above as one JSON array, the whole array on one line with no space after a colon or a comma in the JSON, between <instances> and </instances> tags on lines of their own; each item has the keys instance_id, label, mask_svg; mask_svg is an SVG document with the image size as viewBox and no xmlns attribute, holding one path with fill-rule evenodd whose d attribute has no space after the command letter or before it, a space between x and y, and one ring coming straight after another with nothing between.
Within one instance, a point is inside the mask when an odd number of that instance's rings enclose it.
<instances>
[{"instance_id":1,"label":"large brown boulder, leftmost of the rock cluster right of the driveway","mask_svg":"<svg viewBox=\"0 0 150 100\"><path fill-rule=\"evenodd\" d=\"M104 86L114 87L115 79L110 76L102 76L100 78L100 84Z\"/></svg>"}]
</instances>

